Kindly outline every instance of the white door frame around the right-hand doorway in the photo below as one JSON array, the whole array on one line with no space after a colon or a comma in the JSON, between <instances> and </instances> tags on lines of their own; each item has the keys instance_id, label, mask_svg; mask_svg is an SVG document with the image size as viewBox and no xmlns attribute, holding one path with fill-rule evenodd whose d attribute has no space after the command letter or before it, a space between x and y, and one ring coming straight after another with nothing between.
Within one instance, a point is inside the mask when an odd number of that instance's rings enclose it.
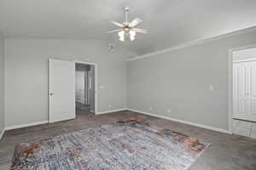
<instances>
[{"instance_id":1,"label":"white door frame around the right-hand doorway","mask_svg":"<svg viewBox=\"0 0 256 170\"><path fill-rule=\"evenodd\" d=\"M241 46L239 48L230 48L228 56L228 112L229 112L229 131L233 133L233 53L243 49L256 48L256 44Z\"/></svg>"}]
</instances>

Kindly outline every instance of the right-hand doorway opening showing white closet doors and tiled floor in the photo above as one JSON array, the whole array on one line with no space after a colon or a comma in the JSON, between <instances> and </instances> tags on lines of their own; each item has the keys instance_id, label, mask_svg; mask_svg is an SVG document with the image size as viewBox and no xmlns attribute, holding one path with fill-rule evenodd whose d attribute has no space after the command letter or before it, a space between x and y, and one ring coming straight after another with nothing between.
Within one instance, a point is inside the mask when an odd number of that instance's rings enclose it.
<instances>
[{"instance_id":1,"label":"right-hand doorway opening showing white closet doors and tiled floor","mask_svg":"<svg viewBox=\"0 0 256 170\"><path fill-rule=\"evenodd\" d=\"M256 138L256 48L232 52L233 133Z\"/></svg>"}]
</instances>

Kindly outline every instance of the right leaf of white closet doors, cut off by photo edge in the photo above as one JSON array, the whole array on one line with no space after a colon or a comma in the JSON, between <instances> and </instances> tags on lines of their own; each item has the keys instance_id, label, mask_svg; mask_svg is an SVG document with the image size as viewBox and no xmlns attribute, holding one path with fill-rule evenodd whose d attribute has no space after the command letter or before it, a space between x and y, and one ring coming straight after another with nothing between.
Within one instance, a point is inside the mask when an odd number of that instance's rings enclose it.
<instances>
[{"instance_id":1,"label":"right leaf of white closet doors, cut off by photo edge","mask_svg":"<svg viewBox=\"0 0 256 170\"><path fill-rule=\"evenodd\" d=\"M256 61L247 62L248 74L248 120L256 122Z\"/></svg>"}]
</instances>

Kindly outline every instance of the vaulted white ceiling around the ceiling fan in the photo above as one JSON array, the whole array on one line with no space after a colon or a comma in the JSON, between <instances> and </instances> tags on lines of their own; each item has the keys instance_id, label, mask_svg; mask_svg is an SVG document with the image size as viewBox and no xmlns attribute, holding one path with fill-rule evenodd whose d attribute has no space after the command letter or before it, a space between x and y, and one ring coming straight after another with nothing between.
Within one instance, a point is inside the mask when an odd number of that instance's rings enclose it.
<instances>
[{"instance_id":1,"label":"vaulted white ceiling around the ceiling fan","mask_svg":"<svg viewBox=\"0 0 256 170\"><path fill-rule=\"evenodd\" d=\"M122 22L143 19L148 29L133 42L105 34ZM100 38L141 55L231 31L256 26L255 0L0 0L0 31L4 37Z\"/></svg>"}]
</instances>

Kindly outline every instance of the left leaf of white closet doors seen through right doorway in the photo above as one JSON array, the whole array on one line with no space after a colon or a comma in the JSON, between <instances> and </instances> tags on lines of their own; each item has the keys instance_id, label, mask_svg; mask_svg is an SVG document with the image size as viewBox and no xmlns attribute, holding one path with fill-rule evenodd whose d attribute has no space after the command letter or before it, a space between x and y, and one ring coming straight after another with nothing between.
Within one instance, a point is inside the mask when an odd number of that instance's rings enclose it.
<instances>
[{"instance_id":1,"label":"left leaf of white closet doors seen through right doorway","mask_svg":"<svg viewBox=\"0 0 256 170\"><path fill-rule=\"evenodd\" d=\"M248 119L247 63L233 64L233 118Z\"/></svg>"}]
</instances>

